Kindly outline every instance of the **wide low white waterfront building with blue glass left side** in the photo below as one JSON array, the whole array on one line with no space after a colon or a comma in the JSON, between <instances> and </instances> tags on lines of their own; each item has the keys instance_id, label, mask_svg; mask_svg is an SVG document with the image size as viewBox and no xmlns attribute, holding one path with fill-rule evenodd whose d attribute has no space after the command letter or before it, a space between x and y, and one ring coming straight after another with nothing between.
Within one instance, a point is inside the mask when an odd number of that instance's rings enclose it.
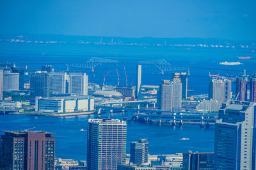
<instances>
[{"instance_id":1,"label":"wide low white waterfront building with blue glass left side","mask_svg":"<svg viewBox=\"0 0 256 170\"><path fill-rule=\"evenodd\" d=\"M94 97L36 97L36 109L39 112L73 113L94 110Z\"/></svg>"}]
</instances>

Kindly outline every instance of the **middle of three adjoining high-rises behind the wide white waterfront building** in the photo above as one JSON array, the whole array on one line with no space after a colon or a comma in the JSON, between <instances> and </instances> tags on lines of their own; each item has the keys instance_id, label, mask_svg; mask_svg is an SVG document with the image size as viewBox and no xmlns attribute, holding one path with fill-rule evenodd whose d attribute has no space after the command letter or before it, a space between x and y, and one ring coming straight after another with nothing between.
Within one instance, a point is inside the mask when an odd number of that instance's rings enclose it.
<instances>
[{"instance_id":1,"label":"middle of three adjoining high-rises behind the wide white waterfront building","mask_svg":"<svg viewBox=\"0 0 256 170\"><path fill-rule=\"evenodd\" d=\"M54 72L52 74L52 93L65 94L67 84L67 73Z\"/></svg>"}]
</instances>

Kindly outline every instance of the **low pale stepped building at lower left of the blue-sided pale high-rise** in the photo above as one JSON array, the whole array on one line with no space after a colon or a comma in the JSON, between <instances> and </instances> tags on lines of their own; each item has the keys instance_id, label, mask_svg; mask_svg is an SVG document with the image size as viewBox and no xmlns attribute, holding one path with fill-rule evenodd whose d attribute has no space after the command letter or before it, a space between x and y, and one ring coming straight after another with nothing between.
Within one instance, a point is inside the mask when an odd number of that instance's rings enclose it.
<instances>
[{"instance_id":1,"label":"low pale stepped building at lower left of the blue-sided pale high-rise","mask_svg":"<svg viewBox=\"0 0 256 170\"><path fill-rule=\"evenodd\" d=\"M198 101L196 105L197 111L218 111L220 109L220 104L218 101L214 100L202 100Z\"/></svg>"}]
</instances>

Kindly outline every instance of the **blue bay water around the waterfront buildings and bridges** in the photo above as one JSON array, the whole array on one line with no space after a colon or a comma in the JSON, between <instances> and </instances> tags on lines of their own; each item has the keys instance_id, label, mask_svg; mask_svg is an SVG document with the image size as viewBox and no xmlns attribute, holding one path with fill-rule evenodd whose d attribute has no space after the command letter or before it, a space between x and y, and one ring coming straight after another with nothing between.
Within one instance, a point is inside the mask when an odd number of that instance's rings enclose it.
<instances>
[{"instance_id":1,"label":"blue bay water around the waterfront buildings and bridges","mask_svg":"<svg viewBox=\"0 0 256 170\"><path fill-rule=\"evenodd\" d=\"M165 59L173 66L214 67L221 69L256 69L255 53L243 53L241 48L202 48L182 46L118 46L118 45L70 45L70 44L27 44L0 43L0 62L85 62L90 57L103 57L118 60L118 65L101 65L95 68L95 73L83 70L89 75L89 81L102 84L104 74L106 84L116 85L116 67L120 74L120 85L125 85L124 66L127 71L128 85L135 83L135 65L140 60ZM42 55L44 53L45 55ZM237 56L251 56L253 60L243 60L241 66L221 66L219 62L236 62ZM32 69L40 69L41 65L29 65ZM54 65L56 70L65 69L65 64ZM160 80L170 79L172 72L157 74L160 70L155 66L143 66L143 85L159 85ZM211 74L225 76L226 71L211 69ZM229 74L239 74L230 71ZM195 90L190 94L207 94L209 70L191 69L188 78L188 89ZM27 77L28 80L28 77ZM233 86L234 87L234 86ZM233 88L234 89L234 88ZM130 115L114 113L111 118L129 117ZM86 159L86 129L88 118L97 115L76 117L31 117L24 115L0 115L0 130L24 130L36 127L35 130L54 132L56 136L56 156L65 159ZM102 115L104 117L104 115ZM148 138L150 154L175 152L213 152L214 127L200 129L198 125L172 127L170 125L149 125L138 122L127 123L127 153L129 143L138 138ZM188 141L180 141L189 138Z\"/></svg>"}]
</instances>

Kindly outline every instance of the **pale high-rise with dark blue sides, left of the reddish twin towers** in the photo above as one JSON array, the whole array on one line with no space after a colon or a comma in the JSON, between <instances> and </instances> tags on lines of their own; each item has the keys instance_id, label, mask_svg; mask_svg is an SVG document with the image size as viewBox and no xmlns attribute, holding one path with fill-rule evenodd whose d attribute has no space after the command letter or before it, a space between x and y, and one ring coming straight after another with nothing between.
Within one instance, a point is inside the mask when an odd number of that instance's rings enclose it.
<instances>
[{"instance_id":1,"label":"pale high-rise with dark blue sides, left of the reddish twin towers","mask_svg":"<svg viewBox=\"0 0 256 170\"><path fill-rule=\"evenodd\" d=\"M225 77L214 77L209 82L209 99L221 104L231 99L231 80Z\"/></svg>"}]
</instances>

